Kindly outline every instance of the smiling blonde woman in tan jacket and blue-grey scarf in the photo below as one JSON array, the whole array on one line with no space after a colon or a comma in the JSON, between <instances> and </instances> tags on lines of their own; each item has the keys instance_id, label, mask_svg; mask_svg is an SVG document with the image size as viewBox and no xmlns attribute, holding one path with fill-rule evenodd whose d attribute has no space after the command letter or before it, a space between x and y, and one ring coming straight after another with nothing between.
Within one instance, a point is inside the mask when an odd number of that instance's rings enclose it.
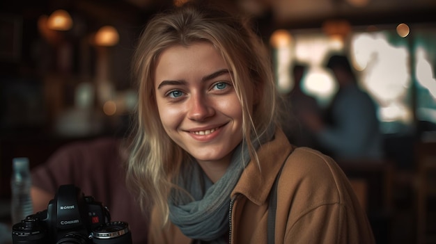
<instances>
[{"instance_id":1,"label":"smiling blonde woman in tan jacket and blue-grey scarf","mask_svg":"<svg viewBox=\"0 0 436 244\"><path fill-rule=\"evenodd\" d=\"M153 206L149 243L373 242L336 163L281 131L270 59L238 18L194 4L157 15L134 74L127 181Z\"/></svg>"}]
</instances>

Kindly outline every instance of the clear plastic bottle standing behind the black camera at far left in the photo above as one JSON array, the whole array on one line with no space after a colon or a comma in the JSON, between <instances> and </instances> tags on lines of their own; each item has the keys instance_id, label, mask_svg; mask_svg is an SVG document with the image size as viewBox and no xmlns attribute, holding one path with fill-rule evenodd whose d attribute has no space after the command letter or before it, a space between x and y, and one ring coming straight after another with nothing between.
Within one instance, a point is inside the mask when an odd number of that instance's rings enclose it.
<instances>
[{"instance_id":1,"label":"clear plastic bottle standing behind the black camera at far left","mask_svg":"<svg viewBox=\"0 0 436 244\"><path fill-rule=\"evenodd\" d=\"M29 158L13 158L13 174L10 179L12 199L10 202L12 222L16 224L33 213L30 195L32 180Z\"/></svg>"}]
</instances>

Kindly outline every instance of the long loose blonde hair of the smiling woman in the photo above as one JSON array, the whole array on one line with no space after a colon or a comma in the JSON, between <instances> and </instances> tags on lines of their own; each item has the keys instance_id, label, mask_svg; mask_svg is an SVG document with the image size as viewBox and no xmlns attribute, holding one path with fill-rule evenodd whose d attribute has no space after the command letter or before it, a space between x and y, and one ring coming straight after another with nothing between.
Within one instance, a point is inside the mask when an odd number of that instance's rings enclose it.
<instances>
[{"instance_id":1,"label":"long loose blonde hair of the smiling woman","mask_svg":"<svg viewBox=\"0 0 436 244\"><path fill-rule=\"evenodd\" d=\"M240 99L243 137L251 158L251 144L272 124L277 124L276 89L267 49L247 23L235 15L210 6L185 4L160 13L148 22L133 58L139 101L134 140L127 163L127 184L139 197L143 210L151 204L168 220L167 197L188 155L167 136L159 119L154 90L154 72L159 54L173 45L208 42L221 53L233 72L233 86ZM252 94L247 92L252 91ZM254 99L251 113L248 99Z\"/></svg>"}]
</instances>

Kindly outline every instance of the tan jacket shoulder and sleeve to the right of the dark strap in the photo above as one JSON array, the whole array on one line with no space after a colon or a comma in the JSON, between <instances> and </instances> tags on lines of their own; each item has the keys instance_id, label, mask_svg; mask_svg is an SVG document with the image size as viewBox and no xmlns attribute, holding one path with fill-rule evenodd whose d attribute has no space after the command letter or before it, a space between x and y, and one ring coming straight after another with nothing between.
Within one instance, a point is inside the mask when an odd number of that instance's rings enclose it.
<instances>
[{"instance_id":1,"label":"tan jacket shoulder and sleeve to the right of the dark strap","mask_svg":"<svg viewBox=\"0 0 436 244\"><path fill-rule=\"evenodd\" d=\"M328 242L373 243L366 213L345 174L332 158L313 149L295 149L283 166L277 215L286 216L279 218L286 226L286 240L313 241L313 236L302 234L302 229L309 229L306 234L323 232L319 236Z\"/></svg>"}]
</instances>

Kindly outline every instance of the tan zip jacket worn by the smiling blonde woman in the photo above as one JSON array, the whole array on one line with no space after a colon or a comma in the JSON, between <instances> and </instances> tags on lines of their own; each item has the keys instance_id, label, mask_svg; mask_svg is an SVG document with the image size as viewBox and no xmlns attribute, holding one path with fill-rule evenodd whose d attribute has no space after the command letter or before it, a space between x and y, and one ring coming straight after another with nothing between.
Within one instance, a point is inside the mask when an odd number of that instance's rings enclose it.
<instances>
[{"instance_id":1,"label":"tan zip jacket worn by the smiling blonde woman","mask_svg":"<svg viewBox=\"0 0 436 244\"><path fill-rule=\"evenodd\" d=\"M231 194L231 243L267 243L268 195L284 161L275 243L375 243L366 213L332 158L291 146L281 131L258 157L260 170L250 162ZM158 218L153 211L149 243L192 243L174 225L160 228Z\"/></svg>"}]
</instances>

